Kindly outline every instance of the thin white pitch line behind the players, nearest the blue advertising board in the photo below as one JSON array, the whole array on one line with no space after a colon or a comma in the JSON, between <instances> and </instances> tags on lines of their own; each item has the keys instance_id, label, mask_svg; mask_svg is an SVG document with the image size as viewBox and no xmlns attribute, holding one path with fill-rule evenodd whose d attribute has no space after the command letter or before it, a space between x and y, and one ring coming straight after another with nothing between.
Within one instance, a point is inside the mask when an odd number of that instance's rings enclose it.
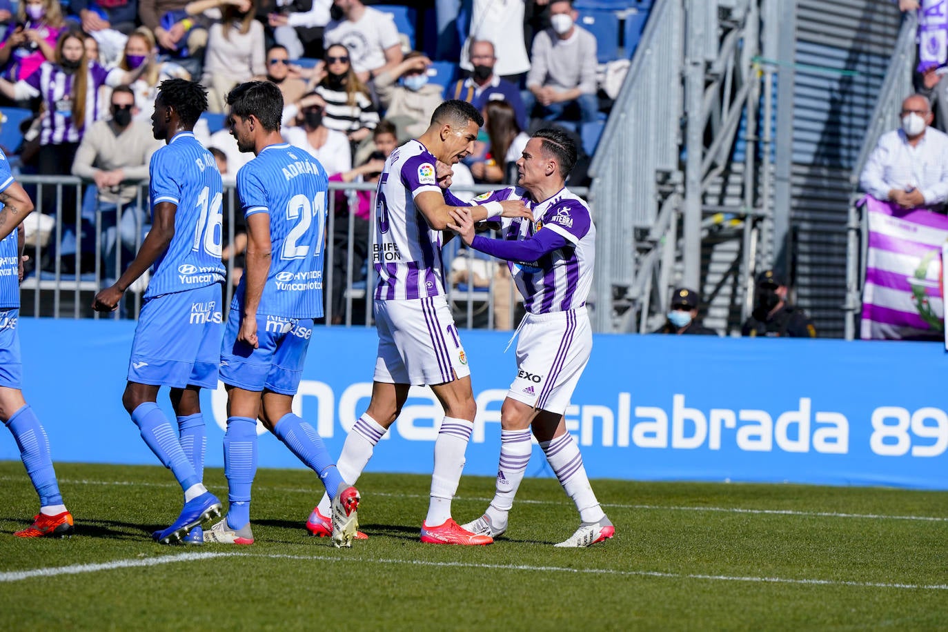
<instances>
[{"instance_id":1,"label":"thin white pitch line behind the players, nearest the blue advertising board","mask_svg":"<svg viewBox=\"0 0 948 632\"><path fill-rule=\"evenodd\" d=\"M0 481L20 480L13 477L0 477ZM61 483L71 485L118 485L118 486L141 486L141 487L177 487L177 483L156 483L156 482L137 482L132 480L90 480L90 479L60 479ZM274 487L279 492L288 492L294 494L312 494L319 493L319 488L305 489L301 487ZM320 494L321 496L321 494ZM389 494L386 492L377 492L373 497L388 498L425 498L428 495L422 494ZM459 497L458 500L468 500L476 502L490 502L493 498L486 497ZM518 498L517 502L527 505L558 505L562 504L557 500L531 500L529 498ZM603 507L612 507L615 509L635 509L648 511L668 511L668 512L711 512L720 514L754 514L754 515L797 515L801 517L829 517L829 518L855 518L863 520L914 520L919 522L948 522L948 516L940 515L885 515L885 514L844 514L840 512L802 512L793 509L745 509L742 507L685 507L679 505L629 505L621 503L602 503Z\"/></svg>"}]
</instances>

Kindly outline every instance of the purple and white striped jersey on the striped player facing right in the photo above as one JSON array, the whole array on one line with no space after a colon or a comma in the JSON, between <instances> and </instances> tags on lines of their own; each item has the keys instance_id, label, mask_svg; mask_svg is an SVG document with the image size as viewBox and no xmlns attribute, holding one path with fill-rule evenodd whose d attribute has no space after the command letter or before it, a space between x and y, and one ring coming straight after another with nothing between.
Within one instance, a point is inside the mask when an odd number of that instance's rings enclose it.
<instances>
[{"instance_id":1,"label":"purple and white striped jersey on the striped player facing right","mask_svg":"<svg viewBox=\"0 0 948 632\"><path fill-rule=\"evenodd\" d=\"M434 156L417 140L405 143L385 161L373 211L375 300L445 294L441 231L428 226L414 205L419 193L441 193L434 164Z\"/></svg>"}]
</instances>

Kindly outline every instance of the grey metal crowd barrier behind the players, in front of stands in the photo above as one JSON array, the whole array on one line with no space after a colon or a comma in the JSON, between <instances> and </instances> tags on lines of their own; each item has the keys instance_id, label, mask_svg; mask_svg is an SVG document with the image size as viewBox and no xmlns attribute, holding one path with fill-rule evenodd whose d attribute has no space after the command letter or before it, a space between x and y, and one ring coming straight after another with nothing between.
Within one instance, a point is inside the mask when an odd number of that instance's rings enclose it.
<instances>
[{"instance_id":1,"label":"grey metal crowd barrier behind the players, in front of stands","mask_svg":"<svg viewBox=\"0 0 948 632\"><path fill-rule=\"evenodd\" d=\"M147 285L142 278L125 293L120 309L108 315L94 312L92 299L100 288L114 282L134 258L147 231L150 217L147 183L137 183L135 197L128 203L122 243L122 212L113 211L101 195L87 192L89 183L71 176L17 176L34 200L36 209L27 216L27 276L21 283L21 312L24 316L55 318L137 318L141 296ZM329 183L329 212L326 223L323 296L327 326L374 325L372 289L375 284L371 261L371 232L359 236L356 208L359 194L368 195L374 208L375 186L371 183ZM497 187L452 187L456 194L477 194ZM337 192L341 200L337 200ZM575 188L586 196L588 190ZM224 264L227 267L225 305L229 306L242 272L240 253L228 244L237 242L239 212L233 187L224 190ZM366 200L363 199L363 204ZM338 208L344 204L348 208ZM136 212L135 208L140 209ZM338 212L337 212L338 211ZM77 221L78 220L78 221ZM340 234L336 235L337 223ZM129 239L128 234L131 234ZM337 244L344 244L344 252ZM498 260L462 247L460 240L449 241L443 250L448 304L459 327L511 330L520 318L520 295L507 270ZM356 262L365 254L365 262ZM339 265L335 265L339 255ZM342 284L341 310L334 310L333 290Z\"/></svg>"}]
</instances>

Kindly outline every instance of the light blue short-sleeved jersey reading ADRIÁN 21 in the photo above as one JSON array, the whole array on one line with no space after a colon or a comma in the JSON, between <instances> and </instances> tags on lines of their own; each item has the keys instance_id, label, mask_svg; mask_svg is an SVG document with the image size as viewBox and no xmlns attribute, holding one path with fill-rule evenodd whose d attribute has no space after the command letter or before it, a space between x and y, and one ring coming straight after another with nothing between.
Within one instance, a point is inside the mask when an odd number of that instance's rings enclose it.
<instances>
[{"instance_id":1,"label":"light blue short-sleeved jersey reading ADRI\u00c1N 21","mask_svg":"<svg viewBox=\"0 0 948 632\"><path fill-rule=\"evenodd\" d=\"M322 316L322 267L329 178L319 161L299 147L268 145L237 172L237 197L249 218L270 218L270 270L257 314L287 318ZM246 276L231 308L241 309ZM239 313L239 312L238 312Z\"/></svg>"}]
</instances>

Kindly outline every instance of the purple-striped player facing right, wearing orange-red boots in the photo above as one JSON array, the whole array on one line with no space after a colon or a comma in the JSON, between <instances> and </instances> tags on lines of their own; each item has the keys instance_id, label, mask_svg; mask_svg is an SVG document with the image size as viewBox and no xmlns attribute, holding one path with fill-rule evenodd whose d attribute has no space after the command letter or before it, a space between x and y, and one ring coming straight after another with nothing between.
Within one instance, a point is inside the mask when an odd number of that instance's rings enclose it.
<instances>
[{"instance_id":1,"label":"purple-striped player facing right, wearing orange-red boots","mask_svg":"<svg viewBox=\"0 0 948 632\"><path fill-rule=\"evenodd\" d=\"M392 152L378 181L372 255L378 282L374 316L378 331L372 401L346 438L339 471L356 480L375 444L398 417L411 385L428 385L445 408L434 442L434 472L421 541L490 544L489 536L462 529L451 518L465 450L474 427L470 369L442 279L442 231L452 208L439 185L439 163L458 163L474 148L483 117L470 103L448 100L431 115L428 131ZM529 217L520 200L468 207L476 221ZM327 535L323 497L306 528Z\"/></svg>"}]
</instances>

